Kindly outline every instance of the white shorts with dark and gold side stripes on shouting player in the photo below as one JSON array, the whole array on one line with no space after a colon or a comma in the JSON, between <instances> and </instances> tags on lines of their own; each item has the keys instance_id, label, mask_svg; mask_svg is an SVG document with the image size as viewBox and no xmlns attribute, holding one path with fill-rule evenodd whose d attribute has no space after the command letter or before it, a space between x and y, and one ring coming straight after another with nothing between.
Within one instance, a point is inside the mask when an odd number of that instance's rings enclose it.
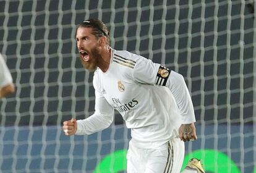
<instances>
[{"instance_id":1,"label":"white shorts with dark and gold side stripes on shouting player","mask_svg":"<svg viewBox=\"0 0 256 173\"><path fill-rule=\"evenodd\" d=\"M129 143L127 173L177 173L185 154L184 142L174 138L156 149L137 148Z\"/></svg>"}]
</instances>

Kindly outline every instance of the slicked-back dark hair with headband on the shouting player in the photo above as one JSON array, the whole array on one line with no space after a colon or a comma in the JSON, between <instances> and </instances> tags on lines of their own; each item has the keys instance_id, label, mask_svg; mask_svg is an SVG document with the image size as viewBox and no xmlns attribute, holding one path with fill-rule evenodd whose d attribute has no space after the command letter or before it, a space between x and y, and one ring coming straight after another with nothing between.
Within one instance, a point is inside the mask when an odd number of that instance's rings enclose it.
<instances>
[{"instance_id":1,"label":"slicked-back dark hair with headband on the shouting player","mask_svg":"<svg viewBox=\"0 0 256 173\"><path fill-rule=\"evenodd\" d=\"M101 36L106 36L108 40L108 44L110 44L108 27L101 20L98 20L98 19L84 20L82 23L79 24L77 28L79 27L93 28L92 34L95 35L97 39L99 39Z\"/></svg>"}]
</instances>

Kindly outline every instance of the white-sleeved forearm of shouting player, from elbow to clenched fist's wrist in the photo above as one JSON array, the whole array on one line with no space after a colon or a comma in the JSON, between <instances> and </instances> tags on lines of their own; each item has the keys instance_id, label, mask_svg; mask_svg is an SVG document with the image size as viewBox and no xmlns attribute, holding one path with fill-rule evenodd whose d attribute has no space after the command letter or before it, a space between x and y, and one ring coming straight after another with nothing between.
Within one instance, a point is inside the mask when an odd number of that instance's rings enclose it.
<instances>
[{"instance_id":1,"label":"white-sleeved forearm of shouting player, from elbow to clenched fist's wrist","mask_svg":"<svg viewBox=\"0 0 256 173\"><path fill-rule=\"evenodd\" d=\"M113 115L111 114L93 114L87 119L77 120L77 132L75 135L90 135L106 129L113 122Z\"/></svg>"}]
</instances>

